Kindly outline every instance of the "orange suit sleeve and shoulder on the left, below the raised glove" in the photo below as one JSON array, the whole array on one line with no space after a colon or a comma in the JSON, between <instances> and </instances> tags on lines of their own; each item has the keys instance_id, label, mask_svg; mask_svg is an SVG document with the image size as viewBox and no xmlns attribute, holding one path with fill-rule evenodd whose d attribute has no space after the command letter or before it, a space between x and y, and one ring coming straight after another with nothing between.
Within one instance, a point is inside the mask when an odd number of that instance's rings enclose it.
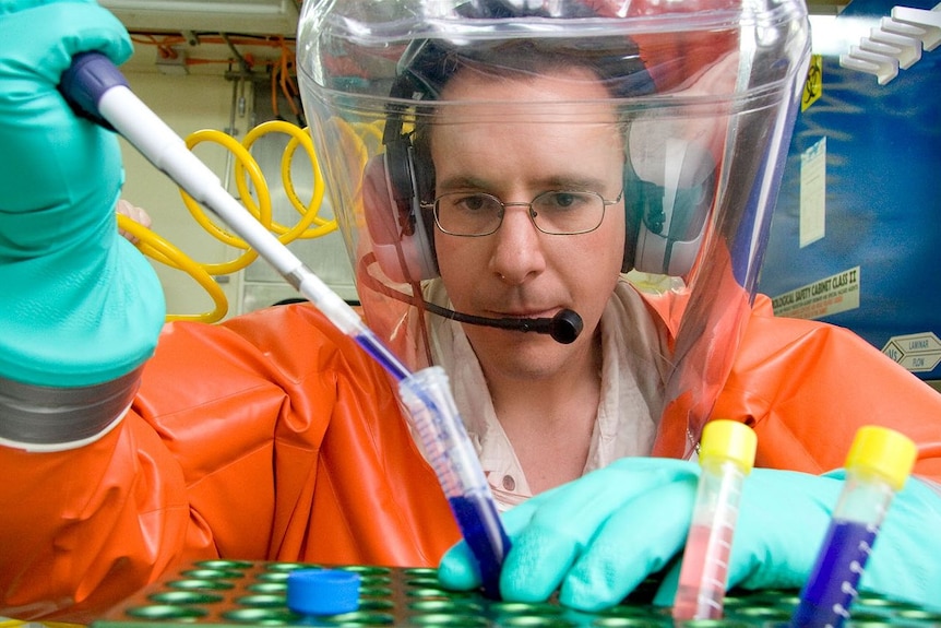
<instances>
[{"instance_id":1,"label":"orange suit sleeve and shoulder on the left, below the raised glove","mask_svg":"<svg viewBox=\"0 0 941 628\"><path fill-rule=\"evenodd\" d=\"M200 558L428 565L457 535L384 371L308 305L167 325L117 428L0 448L0 615L24 619Z\"/></svg>"}]
</instances>

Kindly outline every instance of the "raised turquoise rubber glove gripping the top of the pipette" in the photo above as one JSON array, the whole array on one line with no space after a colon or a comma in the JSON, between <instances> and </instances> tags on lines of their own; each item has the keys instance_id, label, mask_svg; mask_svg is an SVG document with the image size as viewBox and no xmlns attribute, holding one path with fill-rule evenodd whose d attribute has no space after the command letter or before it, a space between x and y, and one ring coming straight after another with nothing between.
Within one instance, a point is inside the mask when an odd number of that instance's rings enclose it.
<instances>
[{"instance_id":1,"label":"raised turquoise rubber glove gripping the top of the pipette","mask_svg":"<svg viewBox=\"0 0 941 628\"><path fill-rule=\"evenodd\" d=\"M0 378L71 388L111 381L153 353L164 297L118 235L117 138L57 91L78 52L120 63L127 31L92 0L0 1Z\"/></svg>"}]
</instances>

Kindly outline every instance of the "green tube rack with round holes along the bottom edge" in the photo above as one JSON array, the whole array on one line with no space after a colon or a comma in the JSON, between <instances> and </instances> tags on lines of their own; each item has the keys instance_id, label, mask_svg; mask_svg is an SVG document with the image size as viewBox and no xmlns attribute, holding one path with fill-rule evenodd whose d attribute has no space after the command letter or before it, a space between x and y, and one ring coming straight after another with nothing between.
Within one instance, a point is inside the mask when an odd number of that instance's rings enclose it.
<instances>
[{"instance_id":1,"label":"green tube rack with round holes along the bottom edge","mask_svg":"<svg viewBox=\"0 0 941 628\"><path fill-rule=\"evenodd\" d=\"M315 618L290 612L286 604L288 573L311 568L357 571L361 578L359 608ZM581 613L551 600L500 602L476 592L448 591L430 568L204 560L144 589L92 628L678 628L669 608L651 605L654 586L653 581L642 584L614 608ZM723 619L684 621L681 628L786 628L797 603L796 590L734 590L726 596ZM941 613L881 597L860 596L851 613L850 628L941 628Z\"/></svg>"}]
</instances>

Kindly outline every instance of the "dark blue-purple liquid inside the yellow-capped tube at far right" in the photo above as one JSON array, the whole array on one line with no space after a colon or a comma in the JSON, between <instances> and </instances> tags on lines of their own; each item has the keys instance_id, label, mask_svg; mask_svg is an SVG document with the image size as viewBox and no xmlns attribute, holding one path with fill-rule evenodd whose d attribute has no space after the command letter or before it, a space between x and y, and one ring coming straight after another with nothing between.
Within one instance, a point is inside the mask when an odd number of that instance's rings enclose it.
<instances>
[{"instance_id":1,"label":"dark blue-purple liquid inside the yellow-capped tube at far right","mask_svg":"<svg viewBox=\"0 0 941 628\"><path fill-rule=\"evenodd\" d=\"M876 529L856 521L834 521L824 540L800 604L791 617L795 627L841 626L849 618L857 584L869 558Z\"/></svg>"}]
</instances>

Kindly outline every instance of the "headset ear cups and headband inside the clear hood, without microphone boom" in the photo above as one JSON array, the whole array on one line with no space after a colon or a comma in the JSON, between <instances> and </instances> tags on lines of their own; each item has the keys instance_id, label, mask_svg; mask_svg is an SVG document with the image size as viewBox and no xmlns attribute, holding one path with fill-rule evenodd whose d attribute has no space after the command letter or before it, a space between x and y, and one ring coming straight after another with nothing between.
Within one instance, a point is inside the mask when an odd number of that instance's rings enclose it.
<instances>
[{"instance_id":1,"label":"headset ear cups and headband inside the clear hood, without microphone boom","mask_svg":"<svg viewBox=\"0 0 941 628\"><path fill-rule=\"evenodd\" d=\"M572 42L571 39L569 40ZM571 44L569 44L571 45ZM579 45L584 51L584 44ZM618 55L594 54L591 68L612 97L655 91L633 46L620 38ZM473 54L473 52L472 52ZM403 54L390 91L383 154L368 164L364 210L377 262L389 279L415 283L438 276L431 213L434 165L427 146L415 142L408 122L433 102L456 69L455 49L438 39L416 40ZM460 52L466 58L466 52ZM684 276L692 269L715 197L715 161L695 142L660 138L650 125L626 142L627 238L622 272Z\"/></svg>"}]
</instances>

